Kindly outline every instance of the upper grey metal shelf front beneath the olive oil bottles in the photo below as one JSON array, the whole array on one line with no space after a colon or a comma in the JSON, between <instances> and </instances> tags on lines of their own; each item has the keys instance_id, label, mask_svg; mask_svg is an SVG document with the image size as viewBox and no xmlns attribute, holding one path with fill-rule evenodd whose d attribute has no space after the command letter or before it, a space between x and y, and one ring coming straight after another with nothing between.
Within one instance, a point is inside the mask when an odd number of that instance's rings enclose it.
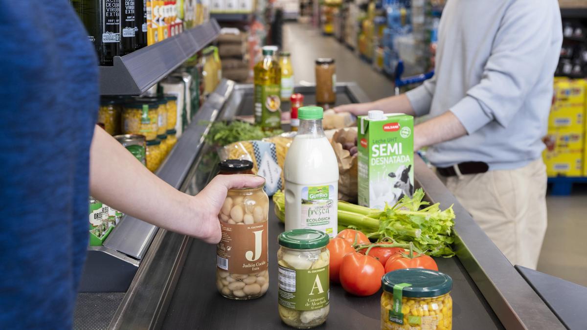
<instances>
[{"instance_id":1,"label":"upper grey metal shelf front beneath the olive oil bottles","mask_svg":"<svg viewBox=\"0 0 587 330\"><path fill-rule=\"evenodd\" d=\"M113 66L100 66L100 94L140 95L181 63L214 41L220 25L214 19L129 55L114 56Z\"/></svg>"}]
</instances>

